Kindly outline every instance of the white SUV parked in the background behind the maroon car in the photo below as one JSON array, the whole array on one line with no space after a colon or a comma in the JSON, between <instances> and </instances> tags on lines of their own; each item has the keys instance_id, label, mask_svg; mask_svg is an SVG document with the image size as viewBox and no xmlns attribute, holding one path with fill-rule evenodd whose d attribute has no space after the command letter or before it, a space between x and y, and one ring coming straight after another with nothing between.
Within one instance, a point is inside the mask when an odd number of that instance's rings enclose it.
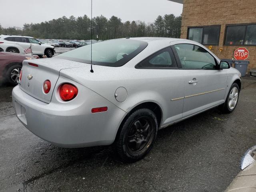
<instances>
[{"instance_id":1,"label":"white SUV parked in the background behind the maroon car","mask_svg":"<svg viewBox=\"0 0 256 192\"><path fill-rule=\"evenodd\" d=\"M32 53L42 57L52 57L54 55L54 46L49 44L42 44L33 37L20 35L0 35L0 51L21 53L31 46Z\"/></svg>"}]
</instances>

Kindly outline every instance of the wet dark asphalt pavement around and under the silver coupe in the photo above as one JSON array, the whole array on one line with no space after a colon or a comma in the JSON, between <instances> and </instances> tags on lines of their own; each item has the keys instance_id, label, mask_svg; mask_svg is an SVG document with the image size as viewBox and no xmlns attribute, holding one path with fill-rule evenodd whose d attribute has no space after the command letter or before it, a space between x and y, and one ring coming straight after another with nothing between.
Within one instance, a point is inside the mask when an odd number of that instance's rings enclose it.
<instances>
[{"instance_id":1,"label":"wet dark asphalt pavement around and under the silver coupe","mask_svg":"<svg viewBox=\"0 0 256 192\"><path fill-rule=\"evenodd\" d=\"M58 148L18 121L12 87L0 87L0 192L221 192L256 145L256 78L243 79L236 110L212 109L160 130L152 151L134 164L111 147Z\"/></svg>"}]
</instances>

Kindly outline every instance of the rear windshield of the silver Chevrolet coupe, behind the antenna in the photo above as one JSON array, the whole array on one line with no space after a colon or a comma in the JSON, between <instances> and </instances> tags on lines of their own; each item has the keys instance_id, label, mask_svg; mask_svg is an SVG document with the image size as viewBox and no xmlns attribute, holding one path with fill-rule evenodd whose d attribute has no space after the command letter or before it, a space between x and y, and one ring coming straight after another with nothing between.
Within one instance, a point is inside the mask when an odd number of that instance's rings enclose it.
<instances>
[{"instance_id":1,"label":"rear windshield of the silver Chevrolet coupe, behind the antenna","mask_svg":"<svg viewBox=\"0 0 256 192\"><path fill-rule=\"evenodd\" d=\"M60 54L55 58L90 64L92 55L92 64L118 67L134 58L147 45L148 43L144 41L114 39L92 44L92 54L91 45L86 45Z\"/></svg>"}]
</instances>

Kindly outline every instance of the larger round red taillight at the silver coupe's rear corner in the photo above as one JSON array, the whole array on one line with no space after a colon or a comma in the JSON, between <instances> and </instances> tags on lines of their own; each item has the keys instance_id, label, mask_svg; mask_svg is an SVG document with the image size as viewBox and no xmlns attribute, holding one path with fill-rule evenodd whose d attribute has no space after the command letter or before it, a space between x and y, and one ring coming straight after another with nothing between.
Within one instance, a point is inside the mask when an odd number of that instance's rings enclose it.
<instances>
[{"instance_id":1,"label":"larger round red taillight at the silver coupe's rear corner","mask_svg":"<svg viewBox=\"0 0 256 192\"><path fill-rule=\"evenodd\" d=\"M74 99L78 94L77 88L72 84L62 84L60 86L60 98L64 101Z\"/></svg>"}]
</instances>

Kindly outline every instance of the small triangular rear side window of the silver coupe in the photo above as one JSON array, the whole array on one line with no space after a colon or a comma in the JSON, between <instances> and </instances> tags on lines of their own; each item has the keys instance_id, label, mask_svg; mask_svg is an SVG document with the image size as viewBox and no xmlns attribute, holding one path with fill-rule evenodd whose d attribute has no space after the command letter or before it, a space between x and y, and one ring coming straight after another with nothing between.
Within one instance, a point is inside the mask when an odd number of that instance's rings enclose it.
<instances>
[{"instance_id":1,"label":"small triangular rear side window of the silver coupe","mask_svg":"<svg viewBox=\"0 0 256 192\"><path fill-rule=\"evenodd\" d=\"M146 60L140 62L136 68L173 68L177 67L172 49L170 47L162 49Z\"/></svg>"}]
</instances>

